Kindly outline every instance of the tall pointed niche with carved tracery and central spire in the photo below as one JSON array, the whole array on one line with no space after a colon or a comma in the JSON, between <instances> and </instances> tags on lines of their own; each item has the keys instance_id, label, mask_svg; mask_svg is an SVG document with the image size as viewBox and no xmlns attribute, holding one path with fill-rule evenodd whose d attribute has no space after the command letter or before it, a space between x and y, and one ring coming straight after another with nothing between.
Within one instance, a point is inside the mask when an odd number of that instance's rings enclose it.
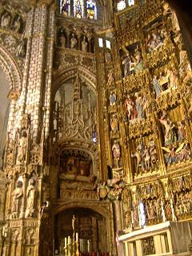
<instances>
[{"instance_id":1,"label":"tall pointed niche with carved tracery and central spire","mask_svg":"<svg viewBox=\"0 0 192 256\"><path fill-rule=\"evenodd\" d=\"M53 142L74 139L96 142L96 107L94 89L79 77L68 80L55 94Z\"/></svg>"}]
</instances>

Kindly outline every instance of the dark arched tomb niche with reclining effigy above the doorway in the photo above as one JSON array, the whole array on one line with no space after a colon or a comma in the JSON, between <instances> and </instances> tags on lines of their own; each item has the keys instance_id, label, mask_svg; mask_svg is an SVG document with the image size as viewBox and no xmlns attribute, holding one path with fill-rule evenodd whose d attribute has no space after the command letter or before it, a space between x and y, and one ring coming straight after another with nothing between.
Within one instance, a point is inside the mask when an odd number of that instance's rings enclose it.
<instances>
[{"instance_id":1,"label":"dark arched tomb niche with reclining effigy above the doorway","mask_svg":"<svg viewBox=\"0 0 192 256\"><path fill-rule=\"evenodd\" d=\"M77 144L78 146L78 144ZM94 191L96 162L88 152L65 149L60 154L58 198L98 200Z\"/></svg>"}]
</instances>

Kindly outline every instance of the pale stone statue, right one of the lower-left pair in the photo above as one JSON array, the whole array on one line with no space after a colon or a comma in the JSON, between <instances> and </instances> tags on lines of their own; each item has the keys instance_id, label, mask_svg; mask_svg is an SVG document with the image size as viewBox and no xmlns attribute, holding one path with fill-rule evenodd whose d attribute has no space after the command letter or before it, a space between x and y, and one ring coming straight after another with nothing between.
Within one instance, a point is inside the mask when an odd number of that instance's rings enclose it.
<instances>
[{"instance_id":1,"label":"pale stone statue, right one of the lower-left pair","mask_svg":"<svg viewBox=\"0 0 192 256\"><path fill-rule=\"evenodd\" d=\"M38 189L35 186L34 178L30 179L29 186L26 189L26 218L34 217L34 210L36 208L36 200L38 196Z\"/></svg>"}]
</instances>

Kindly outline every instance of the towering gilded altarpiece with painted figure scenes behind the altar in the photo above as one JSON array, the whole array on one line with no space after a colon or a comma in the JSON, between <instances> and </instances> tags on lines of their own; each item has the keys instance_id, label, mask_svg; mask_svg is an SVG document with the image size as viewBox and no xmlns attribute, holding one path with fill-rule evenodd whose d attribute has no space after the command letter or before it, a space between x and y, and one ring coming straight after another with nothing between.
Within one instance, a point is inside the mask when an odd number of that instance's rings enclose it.
<instances>
[{"instance_id":1,"label":"towering gilded altarpiece with painted figure scenes behind the altar","mask_svg":"<svg viewBox=\"0 0 192 256\"><path fill-rule=\"evenodd\" d=\"M115 15L111 34L99 34L112 47L99 48L98 62L107 164L126 182L122 230L189 220L191 68L176 14L137 2Z\"/></svg>"}]
</instances>

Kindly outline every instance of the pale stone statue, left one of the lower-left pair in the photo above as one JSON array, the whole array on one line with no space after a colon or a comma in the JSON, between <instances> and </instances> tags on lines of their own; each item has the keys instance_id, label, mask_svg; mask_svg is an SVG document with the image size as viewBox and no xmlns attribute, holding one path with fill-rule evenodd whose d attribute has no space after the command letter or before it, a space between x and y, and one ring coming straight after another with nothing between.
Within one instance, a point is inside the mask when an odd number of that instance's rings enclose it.
<instances>
[{"instance_id":1,"label":"pale stone statue, left one of the lower-left pair","mask_svg":"<svg viewBox=\"0 0 192 256\"><path fill-rule=\"evenodd\" d=\"M22 197L23 197L21 181L16 182L16 188L11 195L12 195L11 218L18 218L21 212Z\"/></svg>"}]
</instances>

